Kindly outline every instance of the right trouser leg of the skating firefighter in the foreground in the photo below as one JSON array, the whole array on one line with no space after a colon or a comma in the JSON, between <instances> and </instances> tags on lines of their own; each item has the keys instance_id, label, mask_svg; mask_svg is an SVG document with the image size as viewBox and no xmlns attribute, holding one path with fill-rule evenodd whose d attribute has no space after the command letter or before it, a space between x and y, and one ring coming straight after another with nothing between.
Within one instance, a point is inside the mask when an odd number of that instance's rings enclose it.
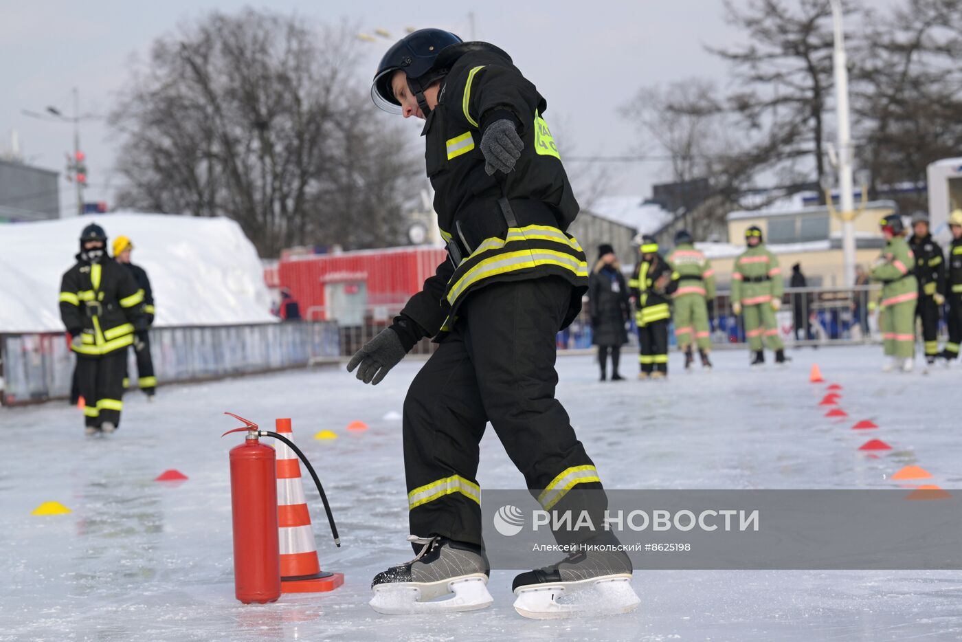
<instances>
[{"instance_id":1,"label":"right trouser leg of the skating firefighter in the foreground","mask_svg":"<svg viewBox=\"0 0 962 642\"><path fill-rule=\"evenodd\" d=\"M600 524L607 500L594 467L555 398L555 335L568 313L572 287L551 276L496 283L472 293L466 333L484 408L494 431L531 494L555 484L552 510L584 509ZM570 475L563 475L577 469ZM559 475L567 478L563 481ZM559 489L569 486L567 492ZM577 512L575 512L577 514ZM561 542L594 533L556 531Z\"/></svg>"}]
</instances>

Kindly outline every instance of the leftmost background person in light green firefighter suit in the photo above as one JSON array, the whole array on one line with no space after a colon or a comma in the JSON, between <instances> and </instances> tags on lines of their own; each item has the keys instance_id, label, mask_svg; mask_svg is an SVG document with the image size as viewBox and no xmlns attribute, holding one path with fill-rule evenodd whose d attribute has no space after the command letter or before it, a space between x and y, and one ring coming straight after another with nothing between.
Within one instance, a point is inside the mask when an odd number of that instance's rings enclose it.
<instances>
[{"instance_id":1,"label":"leftmost background person in light green firefighter suit","mask_svg":"<svg viewBox=\"0 0 962 642\"><path fill-rule=\"evenodd\" d=\"M708 313L709 301L715 300L715 270L711 261L695 248L688 230L674 235L674 249L668 262L678 274L678 289L671 295L673 307L674 336L678 347L685 353L685 370L695 360L692 345L697 344L701 367L711 369L708 358L711 349L711 324Z\"/></svg>"}]
</instances>

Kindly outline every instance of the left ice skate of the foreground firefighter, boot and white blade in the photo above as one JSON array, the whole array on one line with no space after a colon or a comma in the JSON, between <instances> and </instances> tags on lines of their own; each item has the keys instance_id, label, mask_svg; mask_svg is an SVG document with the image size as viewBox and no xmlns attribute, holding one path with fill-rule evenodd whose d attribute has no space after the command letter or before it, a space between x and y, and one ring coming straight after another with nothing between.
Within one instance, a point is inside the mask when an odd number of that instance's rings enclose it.
<instances>
[{"instance_id":1,"label":"left ice skate of the foreground firefighter, boot and white blade","mask_svg":"<svg viewBox=\"0 0 962 642\"><path fill-rule=\"evenodd\" d=\"M386 615L451 613L485 608L494 602L488 592L488 557L479 547L444 537L409 539L423 547L410 562L374 577L370 607L375 611Z\"/></svg>"}]
</instances>

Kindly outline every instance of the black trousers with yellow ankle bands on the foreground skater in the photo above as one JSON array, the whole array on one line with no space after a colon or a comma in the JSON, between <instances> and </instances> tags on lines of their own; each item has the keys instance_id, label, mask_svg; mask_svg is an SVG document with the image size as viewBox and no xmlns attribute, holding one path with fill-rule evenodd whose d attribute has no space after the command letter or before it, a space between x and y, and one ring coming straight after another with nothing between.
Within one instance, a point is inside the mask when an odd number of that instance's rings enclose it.
<instances>
[{"instance_id":1,"label":"black trousers with yellow ankle bands on the foreground skater","mask_svg":"<svg viewBox=\"0 0 962 642\"><path fill-rule=\"evenodd\" d=\"M595 465L554 398L555 335L570 295L570 283L546 276L483 286L461 305L404 401L413 535L484 546L476 475L488 422L544 510L588 510L602 524L607 499ZM555 537L573 543L592 534Z\"/></svg>"}]
</instances>

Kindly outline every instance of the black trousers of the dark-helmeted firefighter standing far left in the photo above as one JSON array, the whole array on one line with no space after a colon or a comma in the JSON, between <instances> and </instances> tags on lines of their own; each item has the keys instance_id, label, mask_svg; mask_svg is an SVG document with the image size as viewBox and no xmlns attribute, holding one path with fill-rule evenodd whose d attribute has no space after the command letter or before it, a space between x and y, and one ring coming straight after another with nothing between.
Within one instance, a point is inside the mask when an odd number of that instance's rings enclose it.
<instances>
[{"instance_id":1,"label":"black trousers of the dark-helmeted firefighter standing far left","mask_svg":"<svg viewBox=\"0 0 962 642\"><path fill-rule=\"evenodd\" d=\"M77 356L77 384L84 398L84 424L99 428L104 422L120 425L123 375L127 348L96 357Z\"/></svg>"}]
</instances>

